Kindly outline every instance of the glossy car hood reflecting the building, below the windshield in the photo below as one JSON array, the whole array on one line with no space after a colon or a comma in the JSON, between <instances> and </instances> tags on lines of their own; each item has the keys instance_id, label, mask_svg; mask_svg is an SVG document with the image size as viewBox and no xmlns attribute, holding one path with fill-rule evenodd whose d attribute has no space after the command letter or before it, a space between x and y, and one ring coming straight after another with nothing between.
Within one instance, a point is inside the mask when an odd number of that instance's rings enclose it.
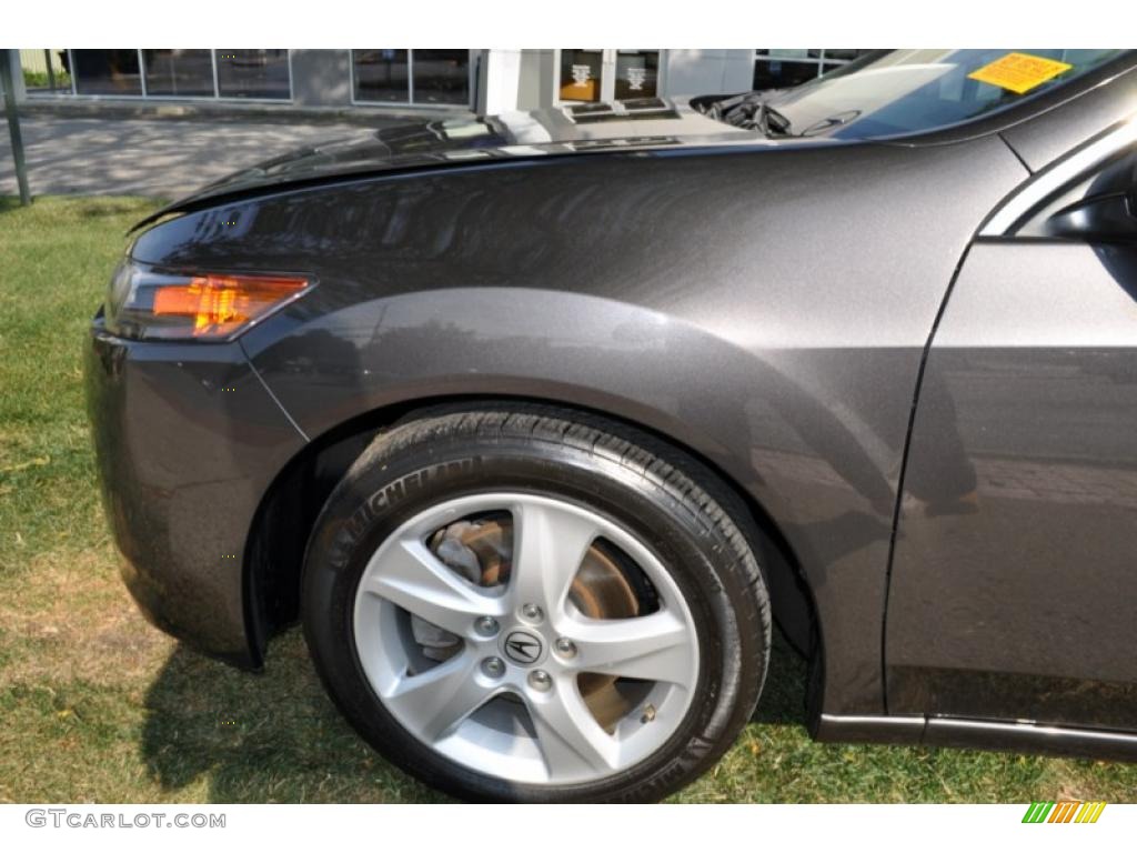
<instances>
[{"instance_id":1,"label":"glossy car hood reflecting the building, below the windshield","mask_svg":"<svg viewBox=\"0 0 1137 853\"><path fill-rule=\"evenodd\" d=\"M684 103L661 98L587 103L488 117L431 118L290 151L234 172L161 208L142 227L167 214L215 204L225 197L316 183L337 176L418 171L613 149L765 143L761 134L707 118Z\"/></svg>"}]
</instances>

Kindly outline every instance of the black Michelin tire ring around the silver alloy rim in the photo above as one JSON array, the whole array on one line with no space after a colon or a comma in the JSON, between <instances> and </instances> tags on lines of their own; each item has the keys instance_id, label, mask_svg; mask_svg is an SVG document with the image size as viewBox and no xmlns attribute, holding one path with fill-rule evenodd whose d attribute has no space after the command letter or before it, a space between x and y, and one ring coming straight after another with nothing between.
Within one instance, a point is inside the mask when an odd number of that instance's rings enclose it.
<instances>
[{"instance_id":1,"label":"black Michelin tire ring around the silver alloy rim","mask_svg":"<svg viewBox=\"0 0 1137 853\"><path fill-rule=\"evenodd\" d=\"M761 686L764 638L740 627L753 595L731 571L730 543L690 500L648 473L584 448L548 441L468 438L383 452L373 445L325 505L304 574L305 633L332 698L389 760L464 800L653 801L713 763L749 717ZM667 743L638 764L597 781L526 785L458 764L417 740L387 711L364 674L355 643L355 601L367 562L415 515L454 498L530 492L587 506L630 531L673 577L690 608L699 648L692 702ZM749 614L742 614L749 615ZM750 622L742 619L741 622ZM752 673L747 677L748 671ZM741 720L739 719L741 714Z\"/></svg>"}]
</instances>

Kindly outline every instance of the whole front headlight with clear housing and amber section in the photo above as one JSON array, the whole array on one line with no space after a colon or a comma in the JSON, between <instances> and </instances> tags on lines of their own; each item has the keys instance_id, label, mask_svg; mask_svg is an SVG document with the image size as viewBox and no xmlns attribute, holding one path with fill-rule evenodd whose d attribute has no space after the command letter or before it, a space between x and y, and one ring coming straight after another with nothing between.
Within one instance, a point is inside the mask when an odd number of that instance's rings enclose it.
<instances>
[{"instance_id":1,"label":"whole front headlight with clear housing and amber section","mask_svg":"<svg viewBox=\"0 0 1137 853\"><path fill-rule=\"evenodd\" d=\"M312 287L306 278L179 274L126 259L110 279L106 324L140 340L232 340Z\"/></svg>"}]
</instances>

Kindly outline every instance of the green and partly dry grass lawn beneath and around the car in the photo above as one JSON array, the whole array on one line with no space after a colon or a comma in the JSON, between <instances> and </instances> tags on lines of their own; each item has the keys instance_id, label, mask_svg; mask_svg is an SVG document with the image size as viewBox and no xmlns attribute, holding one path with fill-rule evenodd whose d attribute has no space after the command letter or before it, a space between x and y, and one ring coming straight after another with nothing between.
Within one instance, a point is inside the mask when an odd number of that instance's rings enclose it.
<instances>
[{"instance_id":1,"label":"green and partly dry grass lawn beneath and around the car","mask_svg":"<svg viewBox=\"0 0 1137 853\"><path fill-rule=\"evenodd\" d=\"M424 802L342 722L291 631L264 674L150 628L118 582L94 483L84 330L153 209L0 199L0 802ZM1137 800L1137 765L833 746L803 727L779 644L755 722L680 802Z\"/></svg>"}]
</instances>

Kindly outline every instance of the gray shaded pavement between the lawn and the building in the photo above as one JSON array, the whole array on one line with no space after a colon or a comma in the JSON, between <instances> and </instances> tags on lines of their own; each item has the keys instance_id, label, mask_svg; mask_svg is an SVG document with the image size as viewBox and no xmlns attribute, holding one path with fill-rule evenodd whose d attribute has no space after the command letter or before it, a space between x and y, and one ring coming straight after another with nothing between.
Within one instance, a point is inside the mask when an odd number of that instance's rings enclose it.
<instances>
[{"instance_id":1,"label":"gray shaded pavement between the lawn and the building","mask_svg":"<svg viewBox=\"0 0 1137 853\"><path fill-rule=\"evenodd\" d=\"M370 133L347 124L56 116L25 117L20 130L33 196L165 199L292 148ZM17 193L8 126L0 118L0 196Z\"/></svg>"}]
</instances>

